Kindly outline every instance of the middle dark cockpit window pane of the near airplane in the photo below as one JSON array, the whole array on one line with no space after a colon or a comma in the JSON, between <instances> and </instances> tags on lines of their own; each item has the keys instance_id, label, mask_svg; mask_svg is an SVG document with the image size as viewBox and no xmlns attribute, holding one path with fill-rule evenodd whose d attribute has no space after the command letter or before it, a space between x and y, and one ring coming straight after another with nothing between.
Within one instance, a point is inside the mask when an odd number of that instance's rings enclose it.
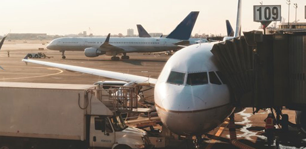
<instances>
[{"instance_id":1,"label":"middle dark cockpit window pane of the near airplane","mask_svg":"<svg viewBox=\"0 0 306 149\"><path fill-rule=\"evenodd\" d=\"M207 72L189 73L187 76L188 85L203 85L207 83Z\"/></svg>"}]
</instances>

